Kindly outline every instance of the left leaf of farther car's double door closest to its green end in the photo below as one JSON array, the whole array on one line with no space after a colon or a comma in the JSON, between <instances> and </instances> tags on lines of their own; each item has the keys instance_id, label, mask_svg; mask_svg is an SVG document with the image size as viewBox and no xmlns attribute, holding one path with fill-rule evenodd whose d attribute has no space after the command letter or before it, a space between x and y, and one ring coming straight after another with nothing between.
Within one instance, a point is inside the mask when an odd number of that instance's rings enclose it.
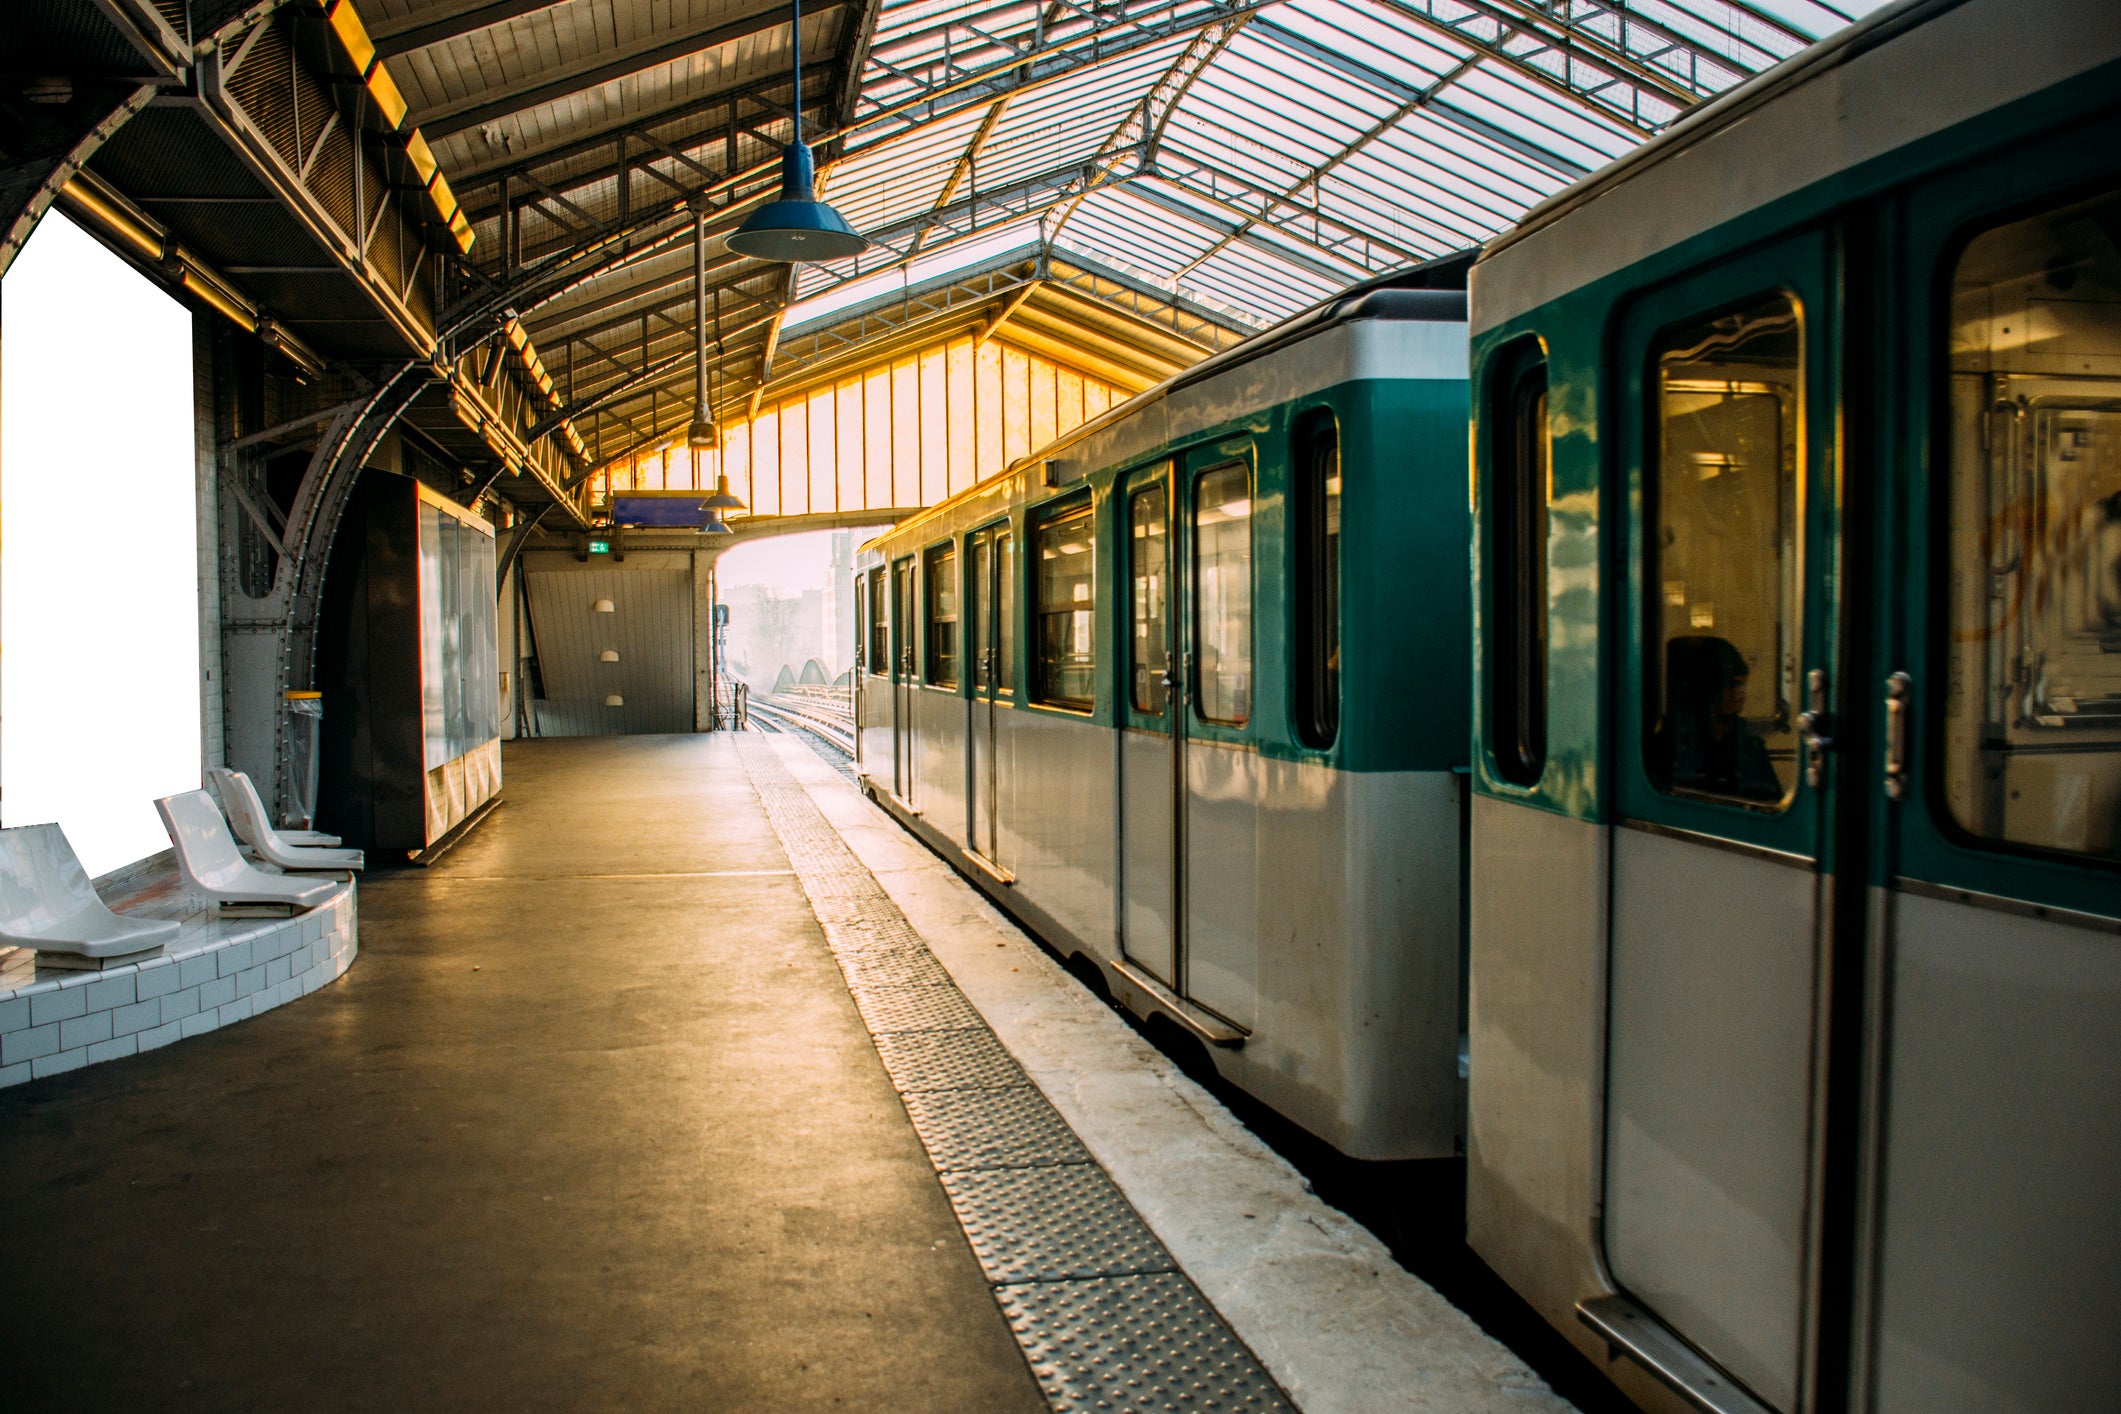
<instances>
[{"instance_id":1,"label":"left leaf of farther car's double door closest to its green end","mask_svg":"<svg viewBox=\"0 0 2121 1414\"><path fill-rule=\"evenodd\" d=\"M1122 507L1128 608L1120 719L1120 950L1169 988L1177 973L1177 674L1171 464L1139 473Z\"/></svg>"}]
</instances>

